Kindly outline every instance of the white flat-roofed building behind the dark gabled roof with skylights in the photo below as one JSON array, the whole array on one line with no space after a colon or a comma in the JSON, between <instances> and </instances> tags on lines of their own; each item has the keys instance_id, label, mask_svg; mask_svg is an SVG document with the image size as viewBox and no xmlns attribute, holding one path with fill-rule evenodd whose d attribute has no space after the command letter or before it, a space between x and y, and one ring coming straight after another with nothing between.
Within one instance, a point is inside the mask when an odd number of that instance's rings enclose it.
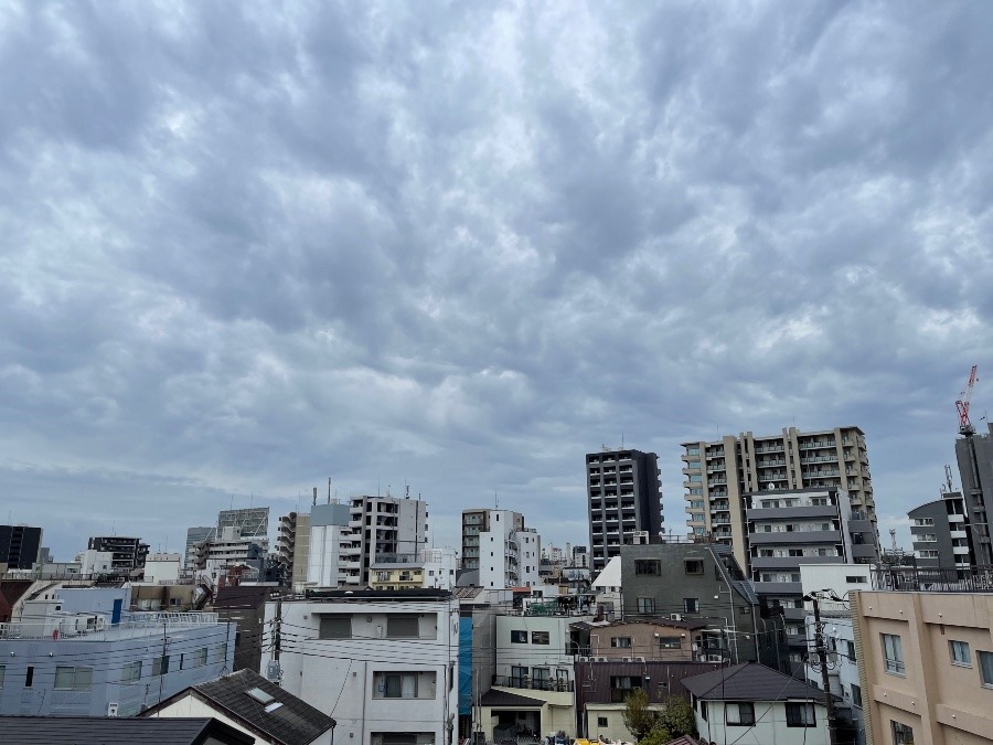
<instances>
[{"instance_id":1,"label":"white flat-roofed building behind the dark gabled roof with skylights","mask_svg":"<svg viewBox=\"0 0 993 745\"><path fill-rule=\"evenodd\" d=\"M276 613L268 603L267 628ZM281 685L334 717L338 742L453 742L459 606L450 593L312 590L284 600L281 614ZM263 660L263 674L271 662Z\"/></svg>"}]
</instances>

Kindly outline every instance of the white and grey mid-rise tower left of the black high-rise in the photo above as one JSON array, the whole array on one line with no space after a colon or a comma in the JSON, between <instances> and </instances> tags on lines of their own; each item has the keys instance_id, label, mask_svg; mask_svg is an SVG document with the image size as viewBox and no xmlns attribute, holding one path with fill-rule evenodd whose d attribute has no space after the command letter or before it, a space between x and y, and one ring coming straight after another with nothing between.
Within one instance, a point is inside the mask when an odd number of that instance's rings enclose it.
<instances>
[{"instance_id":1,"label":"white and grey mid-rise tower left of the black high-rise","mask_svg":"<svg viewBox=\"0 0 993 745\"><path fill-rule=\"evenodd\" d=\"M524 515L510 510L462 511L462 572L479 572L479 587L541 585L542 541Z\"/></svg>"}]
</instances>

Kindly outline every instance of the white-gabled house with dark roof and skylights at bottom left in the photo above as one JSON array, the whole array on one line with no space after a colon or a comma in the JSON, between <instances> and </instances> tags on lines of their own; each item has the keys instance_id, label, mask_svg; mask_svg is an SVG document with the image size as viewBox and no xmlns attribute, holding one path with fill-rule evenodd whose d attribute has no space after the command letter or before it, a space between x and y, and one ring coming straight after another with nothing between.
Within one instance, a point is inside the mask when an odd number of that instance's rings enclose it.
<instances>
[{"instance_id":1,"label":"white-gabled house with dark roof and skylights at bottom left","mask_svg":"<svg viewBox=\"0 0 993 745\"><path fill-rule=\"evenodd\" d=\"M212 716L269 745L330 745L334 720L257 672L241 670L162 701L141 714Z\"/></svg>"}]
</instances>

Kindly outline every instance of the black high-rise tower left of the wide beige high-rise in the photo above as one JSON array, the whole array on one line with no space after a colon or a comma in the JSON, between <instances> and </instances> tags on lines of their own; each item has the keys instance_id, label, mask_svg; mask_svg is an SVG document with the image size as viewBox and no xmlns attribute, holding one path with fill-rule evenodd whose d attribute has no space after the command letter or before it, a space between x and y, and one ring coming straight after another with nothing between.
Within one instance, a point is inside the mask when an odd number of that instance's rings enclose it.
<instances>
[{"instance_id":1,"label":"black high-rise tower left of the wide beige high-rise","mask_svg":"<svg viewBox=\"0 0 993 745\"><path fill-rule=\"evenodd\" d=\"M640 450L609 450L586 456L589 498L589 549L592 571L620 555L636 533L662 532L662 485L659 456Z\"/></svg>"}]
</instances>

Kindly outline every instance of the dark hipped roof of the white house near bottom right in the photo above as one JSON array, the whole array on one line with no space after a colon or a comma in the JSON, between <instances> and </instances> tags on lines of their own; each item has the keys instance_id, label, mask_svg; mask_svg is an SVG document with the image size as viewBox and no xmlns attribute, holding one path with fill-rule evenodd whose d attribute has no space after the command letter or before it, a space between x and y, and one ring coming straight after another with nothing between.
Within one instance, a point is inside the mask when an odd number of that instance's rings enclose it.
<instances>
[{"instance_id":1,"label":"dark hipped roof of the white house near bottom right","mask_svg":"<svg viewBox=\"0 0 993 745\"><path fill-rule=\"evenodd\" d=\"M704 701L788 701L811 700L824 703L824 692L796 678L758 662L683 679L683 687Z\"/></svg>"}]
</instances>

